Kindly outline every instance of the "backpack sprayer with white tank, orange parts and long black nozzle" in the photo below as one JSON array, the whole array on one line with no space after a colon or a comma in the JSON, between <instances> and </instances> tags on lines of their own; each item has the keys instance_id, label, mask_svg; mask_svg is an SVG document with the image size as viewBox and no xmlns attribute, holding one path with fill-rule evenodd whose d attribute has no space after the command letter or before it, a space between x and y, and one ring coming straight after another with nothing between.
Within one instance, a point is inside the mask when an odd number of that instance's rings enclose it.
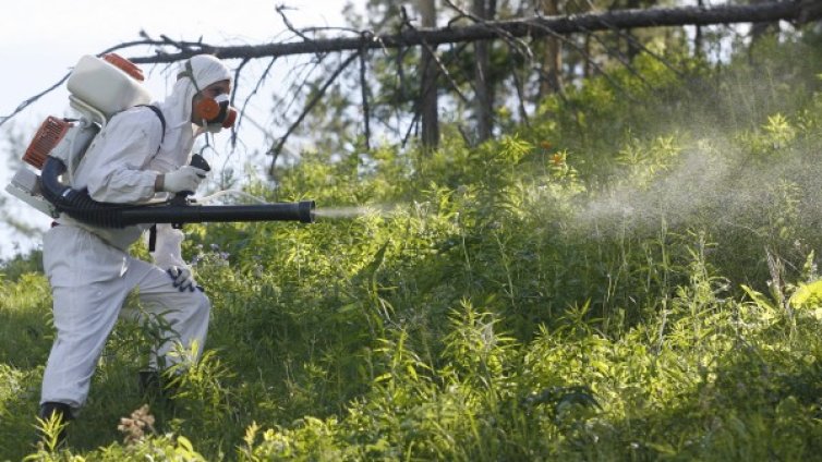
<instances>
[{"instance_id":1,"label":"backpack sprayer with white tank, orange parts and long black nozzle","mask_svg":"<svg viewBox=\"0 0 822 462\"><path fill-rule=\"evenodd\" d=\"M107 121L122 110L150 102L152 97L142 81L140 68L114 53L102 59L83 57L68 82L70 106L81 117L47 118L23 156L40 174L24 166L5 191L51 218L63 212L101 228L207 221L314 221L313 200L205 206L180 193L158 204L125 205L96 202L86 190L72 189L74 171ZM192 165L209 170L200 155L193 157Z\"/></svg>"}]
</instances>

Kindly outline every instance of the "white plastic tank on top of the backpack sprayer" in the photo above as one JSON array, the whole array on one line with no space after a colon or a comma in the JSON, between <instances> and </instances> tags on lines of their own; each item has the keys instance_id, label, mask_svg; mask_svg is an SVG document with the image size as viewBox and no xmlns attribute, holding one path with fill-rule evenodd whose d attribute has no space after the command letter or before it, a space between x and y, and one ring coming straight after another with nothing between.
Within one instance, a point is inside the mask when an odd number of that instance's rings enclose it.
<instances>
[{"instance_id":1,"label":"white plastic tank on top of the backpack sprayer","mask_svg":"<svg viewBox=\"0 0 822 462\"><path fill-rule=\"evenodd\" d=\"M141 73L138 69L135 72ZM152 102L152 94L137 78L142 80L142 75L130 75L107 60L86 54L69 76L68 88L108 119L132 106Z\"/></svg>"}]
</instances>

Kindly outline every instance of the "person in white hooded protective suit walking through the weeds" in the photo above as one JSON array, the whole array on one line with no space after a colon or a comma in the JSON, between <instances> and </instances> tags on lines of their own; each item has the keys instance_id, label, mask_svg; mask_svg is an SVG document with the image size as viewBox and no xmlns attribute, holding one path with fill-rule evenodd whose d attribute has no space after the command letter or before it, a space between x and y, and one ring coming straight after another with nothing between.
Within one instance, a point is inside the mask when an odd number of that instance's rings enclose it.
<instances>
[{"instance_id":1,"label":"person in white hooded protective suit walking through the weeds","mask_svg":"<svg viewBox=\"0 0 822 462\"><path fill-rule=\"evenodd\" d=\"M189 60L169 97L156 106L134 107L112 117L78 166L74 189L87 187L97 202L136 204L157 192L193 192L206 171L189 166L194 138L221 127L196 120L205 98L226 100L231 73L217 58ZM159 147L158 147L159 146ZM152 358L152 367L179 361L167 356L176 344L202 351L210 302L181 257L183 234L157 224L154 264L129 255L128 247L150 227L101 229L61 215L44 236L43 263L51 283L57 337L43 377L40 418L64 422L86 401L92 375L123 301L138 290L147 313L162 314L172 329Z\"/></svg>"}]
</instances>

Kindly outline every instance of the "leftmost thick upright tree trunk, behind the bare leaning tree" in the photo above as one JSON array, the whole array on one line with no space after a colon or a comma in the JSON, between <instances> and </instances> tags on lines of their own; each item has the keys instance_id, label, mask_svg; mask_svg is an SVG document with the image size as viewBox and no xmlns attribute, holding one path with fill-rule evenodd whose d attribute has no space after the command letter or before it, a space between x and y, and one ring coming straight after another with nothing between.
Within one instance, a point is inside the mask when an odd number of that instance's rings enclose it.
<instances>
[{"instance_id":1,"label":"leftmost thick upright tree trunk, behind the bare leaning tree","mask_svg":"<svg viewBox=\"0 0 822 462\"><path fill-rule=\"evenodd\" d=\"M434 28L437 25L434 0L419 1L422 26ZM437 75L439 70L432 52L436 45L422 47L420 63L420 117L422 118L422 144L426 149L434 149L439 144L439 111L437 108Z\"/></svg>"}]
</instances>

